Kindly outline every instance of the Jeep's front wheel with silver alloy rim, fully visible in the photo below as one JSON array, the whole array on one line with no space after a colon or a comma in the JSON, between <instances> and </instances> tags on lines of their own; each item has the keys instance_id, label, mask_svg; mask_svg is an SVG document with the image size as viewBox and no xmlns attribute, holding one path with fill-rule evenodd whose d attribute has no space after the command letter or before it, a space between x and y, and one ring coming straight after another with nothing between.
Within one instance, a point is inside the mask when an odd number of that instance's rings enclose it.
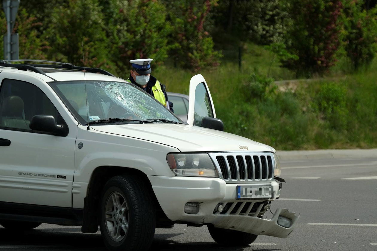
<instances>
[{"instance_id":1,"label":"Jeep's front wheel with silver alloy rim, fully visible","mask_svg":"<svg viewBox=\"0 0 377 251\"><path fill-rule=\"evenodd\" d=\"M100 229L109 250L148 250L156 228L150 191L138 176L121 175L107 181L100 205Z\"/></svg>"}]
</instances>

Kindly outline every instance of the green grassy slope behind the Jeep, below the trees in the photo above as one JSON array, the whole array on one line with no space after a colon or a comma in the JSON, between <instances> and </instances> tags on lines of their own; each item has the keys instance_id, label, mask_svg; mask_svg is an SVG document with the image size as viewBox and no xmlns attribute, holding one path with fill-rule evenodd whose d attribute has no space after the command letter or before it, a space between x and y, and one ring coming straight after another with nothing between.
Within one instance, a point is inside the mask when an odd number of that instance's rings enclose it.
<instances>
[{"instance_id":1,"label":"green grassy slope behind the Jeep, below the trees","mask_svg":"<svg viewBox=\"0 0 377 251\"><path fill-rule=\"evenodd\" d=\"M244 52L241 70L238 59L224 59L218 68L200 72L225 131L279 150L377 147L377 64L337 81L299 83L292 90L282 91L270 83L261 96L255 90L263 84L251 74L270 73L280 80L293 79L294 73L280 68L260 46L248 44ZM343 74L347 67L342 64L332 69L331 76ZM168 91L189 94L195 73L166 65L153 75Z\"/></svg>"}]
</instances>

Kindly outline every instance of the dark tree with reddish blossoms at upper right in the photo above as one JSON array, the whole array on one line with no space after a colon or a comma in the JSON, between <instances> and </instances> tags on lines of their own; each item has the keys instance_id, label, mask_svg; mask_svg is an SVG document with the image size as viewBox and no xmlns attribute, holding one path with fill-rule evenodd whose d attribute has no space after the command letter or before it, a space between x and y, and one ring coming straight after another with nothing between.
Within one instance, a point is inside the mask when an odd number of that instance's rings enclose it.
<instances>
[{"instance_id":1,"label":"dark tree with reddish blossoms at upper right","mask_svg":"<svg viewBox=\"0 0 377 251\"><path fill-rule=\"evenodd\" d=\"M298 56L285 66L299 75L323 74L334 63L341 44L340 0L290 0L293 25L289 31L288 51Z\"/></svg>"}]
</instances>

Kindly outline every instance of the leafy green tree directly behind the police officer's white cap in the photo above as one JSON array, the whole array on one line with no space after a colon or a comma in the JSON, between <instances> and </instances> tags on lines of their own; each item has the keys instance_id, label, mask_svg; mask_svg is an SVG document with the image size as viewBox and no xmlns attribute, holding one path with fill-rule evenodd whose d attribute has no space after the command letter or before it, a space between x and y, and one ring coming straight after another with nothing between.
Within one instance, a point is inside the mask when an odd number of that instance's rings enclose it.
<instances>
[{"instance_id":1,"label":"leafy green tree directly behind the police officer's white cap","mask_svg":"<svg viewBox=\"0 0 377 251\"><path fill-rule=\"evenodd\" d=\"M122 76L127 76L131 59L153 58L154 65L165 61L171 26L164 5L155 0L115 0L107 8L111 10L106 18L109 46Z\"/></svg>"}]
</instances>

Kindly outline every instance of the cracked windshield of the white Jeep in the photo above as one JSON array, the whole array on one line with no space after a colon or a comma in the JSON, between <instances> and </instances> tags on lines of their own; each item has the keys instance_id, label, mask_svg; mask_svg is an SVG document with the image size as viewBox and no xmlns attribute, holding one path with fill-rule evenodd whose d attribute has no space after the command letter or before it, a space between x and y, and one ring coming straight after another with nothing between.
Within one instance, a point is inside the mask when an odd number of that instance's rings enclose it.
<instances>
[{"instance_id":1,"label":"cracked windshield of the white Jeep","mask_svg":"<svg viewBox=\"0 0 377 251\"><path fill-rule=\"evenodd\" d=\"M128 83L67 81L52 86L82 124L109 118L181 122L159 102Z\"/></svg>"}]
</instances>

